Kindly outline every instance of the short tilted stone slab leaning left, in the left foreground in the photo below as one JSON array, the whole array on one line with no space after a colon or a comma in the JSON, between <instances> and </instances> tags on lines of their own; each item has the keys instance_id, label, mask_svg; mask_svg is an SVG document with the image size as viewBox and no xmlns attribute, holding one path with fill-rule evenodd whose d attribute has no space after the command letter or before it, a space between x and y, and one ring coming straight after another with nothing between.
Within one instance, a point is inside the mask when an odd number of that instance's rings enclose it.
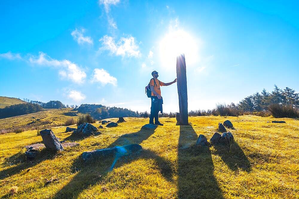
<instances>
[{"instance_id":1,"label":"short tilted stone slab leaning left, in the left foreground","mask_svg":"<svg viewBox=\"0 0 299 199\"><path fill-rule=\"evenodd\" d=\"M54 151L63 151L63 146L60 141L56 138L51 129L44 129L40 132L42 136L42 142L45 144L46 149Z\"/></svg>"}]
</instances>

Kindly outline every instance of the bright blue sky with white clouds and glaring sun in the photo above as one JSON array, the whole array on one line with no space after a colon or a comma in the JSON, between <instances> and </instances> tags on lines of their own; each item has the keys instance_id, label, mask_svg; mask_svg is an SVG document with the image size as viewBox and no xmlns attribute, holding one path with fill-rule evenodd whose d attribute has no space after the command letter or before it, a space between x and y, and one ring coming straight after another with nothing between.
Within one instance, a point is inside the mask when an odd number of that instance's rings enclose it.
<instances>
[{"instance_id":1,"label":"bright blue sky with white clouds and glaring sun","mask_svg":"<svg viewBox=\"0 0 299 199\"><path fill-rule=\"evenodd\" d=\"M1 1L0 95L150 109L152 70L176 78L185 53L188 109L299 90L296 1ZM161 88L179 110L176 84Z\"/></svg>"}]
</instances>

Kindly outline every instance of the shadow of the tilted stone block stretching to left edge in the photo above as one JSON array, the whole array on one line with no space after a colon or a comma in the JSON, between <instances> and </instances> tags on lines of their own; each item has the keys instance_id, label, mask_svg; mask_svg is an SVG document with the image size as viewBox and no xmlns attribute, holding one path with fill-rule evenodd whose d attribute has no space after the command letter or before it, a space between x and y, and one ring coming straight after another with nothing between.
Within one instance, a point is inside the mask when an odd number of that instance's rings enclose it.
<instances>
[{"instance_id":1,"label":"shadow of the tilted stone block stretching to left edge","mask_svg":"<svg viewBox=\"0 0 299 199\"><path fill-rule=\"evenodd\" d=\"M38 153L36 158L34 158L32 161L29 161L28 159L26 159L26 155L24 152L18 152L6 159L7 160L6 162L10 162L10 161L15 162L14 164L16 166L13 166L13 167L10 167L8 169L1 171L0 180L7 178L9 176L15 175L24 169L28 169L32 166L35 166L35 165L41 163L42 161L45 161L48 159L54 159L55 155L56 155L56 152L54 152L54 151L50 151L48 149L42 149Z\"/></svg>"}]
</instances>

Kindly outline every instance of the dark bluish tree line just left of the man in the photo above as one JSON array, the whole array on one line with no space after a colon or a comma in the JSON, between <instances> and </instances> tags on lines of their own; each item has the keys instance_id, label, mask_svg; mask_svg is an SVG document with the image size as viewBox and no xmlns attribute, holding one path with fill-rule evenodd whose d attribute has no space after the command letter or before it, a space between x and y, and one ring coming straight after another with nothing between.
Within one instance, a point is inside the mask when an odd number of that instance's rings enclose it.
<instances>
[{"instance_id":1,"label":"dark bluish tree line just left of the man","mask_svg":"<svg viewBox=\"0 0 299 199\"><path fill-rule=\"evenodd\" d=\"M140 117L140 114L135 111L118 108L106 107L101 104L81 104L77 108L80 113L89 113L95 119L118 118L118 117Z\"/></svg>"}]
</instances>

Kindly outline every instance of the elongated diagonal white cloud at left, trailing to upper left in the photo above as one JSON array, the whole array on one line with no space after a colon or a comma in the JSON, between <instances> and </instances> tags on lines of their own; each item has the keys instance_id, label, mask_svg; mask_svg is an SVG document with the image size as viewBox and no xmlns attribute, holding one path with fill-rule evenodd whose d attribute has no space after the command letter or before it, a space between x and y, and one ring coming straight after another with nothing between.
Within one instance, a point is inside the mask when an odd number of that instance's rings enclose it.
<instances>
[{"instance_id":1,"label":"elongated diagonal white cloud at left, trailing to upper left","mask_svg":"<svg viewBox=\"0 0 299 199\"><path fill-rule=\"evenodd\" d=\"M82 83L86 78L86 73L77 64L66 59L62 61L53 59L43 52L39 52L38 57L31 56L29 62L40 66L59 67L59 75L75 83Z\"/></svg>"}]
</instances>

